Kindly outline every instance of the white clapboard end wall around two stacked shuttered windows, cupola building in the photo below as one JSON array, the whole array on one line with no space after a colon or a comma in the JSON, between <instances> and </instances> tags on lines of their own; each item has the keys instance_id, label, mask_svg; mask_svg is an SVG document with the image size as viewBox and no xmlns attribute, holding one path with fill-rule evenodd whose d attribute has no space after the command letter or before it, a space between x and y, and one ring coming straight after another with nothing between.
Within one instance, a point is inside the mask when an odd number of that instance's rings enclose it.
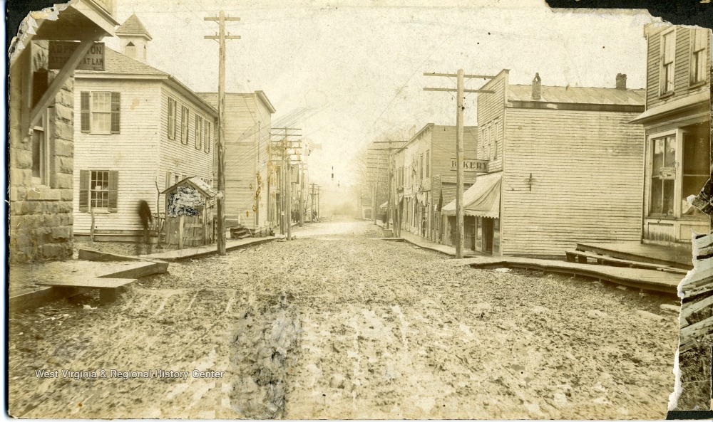
<instances>
[{"instance_id":1,"label":"white clapboard end wall around two stacked shuttered windows, cupola building","mask_svg":"<svg viewBox=\"0 0 713 422\"><path fill-rule=\"evenodd\" d=\"M160 83L139 80L99 80L76 78L74 115L81 115L82 91L118 91L120 97L120 133L88 134L75 125L74 132L74 233L89 233L91 215L79 211L79 176L81 170L118 171L118 210L96 213L97 231L126 231L142 228L138 202L148 201L156 212L156 186L163 186L157 173L160 156L158 132Z\"/></svg>"}]
</instances>

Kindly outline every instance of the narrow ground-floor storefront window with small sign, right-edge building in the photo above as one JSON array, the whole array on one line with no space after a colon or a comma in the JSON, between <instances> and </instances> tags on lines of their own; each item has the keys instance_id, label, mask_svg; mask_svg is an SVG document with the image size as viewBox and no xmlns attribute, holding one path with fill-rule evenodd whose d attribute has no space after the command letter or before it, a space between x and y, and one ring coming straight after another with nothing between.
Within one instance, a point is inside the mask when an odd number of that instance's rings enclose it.
<instances>
[{"instance_id":1,"label":"narrow ground-floor storefront window with small sign, right-edge building","mask_svg":"<svg viewBox=\"0 0 713 422\"><path fill-rule=\"evenodd\" d=\"M676 176L676 137L653 140L653 166L651 174L650 214L674 213L674 186Z\"/></svg>"}]
</instances>

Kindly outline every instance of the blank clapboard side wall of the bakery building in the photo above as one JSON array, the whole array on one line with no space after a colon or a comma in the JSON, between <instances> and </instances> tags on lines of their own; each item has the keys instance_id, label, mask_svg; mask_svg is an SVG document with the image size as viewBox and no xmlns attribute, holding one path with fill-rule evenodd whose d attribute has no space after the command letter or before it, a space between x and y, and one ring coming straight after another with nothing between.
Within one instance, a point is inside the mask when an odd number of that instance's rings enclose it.
<instances>
[{"instance_id":1,"label":"blank clapboard side wall of the bakery building","mask_svg":"<svg viewBox=\"0 0 713 422\"><path fill-rule=\"evenodd\" d=\"M628 123L636 115L506 109L504 255L640 241L644 132Z\"/></svg>"}]
</instances>

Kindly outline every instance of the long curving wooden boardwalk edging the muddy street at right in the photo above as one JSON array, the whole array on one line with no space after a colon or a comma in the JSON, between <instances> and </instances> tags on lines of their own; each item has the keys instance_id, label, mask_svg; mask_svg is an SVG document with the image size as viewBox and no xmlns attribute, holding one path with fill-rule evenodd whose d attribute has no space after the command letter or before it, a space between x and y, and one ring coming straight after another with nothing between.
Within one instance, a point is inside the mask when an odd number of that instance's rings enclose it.
<instances>
[{"instance_id":1,"label":"long curving wooden boardwalk edging the muddy street at right","mask_svg":"<svg viewBox=\"0 0 713 422\"><path fill-rule=\"evenodd\" d=\"M683 278L680 274L642 268L611 267L609 265L591 265L513 256L479 256L477 258L452 260L451 262L453 265L468 265L473 268L526 268L553 273L580 275L582 277L627 285L632 288L655 290L657 292L671 293L674 295L677 294L678 285Z\"/></svg>"}]
</instances>

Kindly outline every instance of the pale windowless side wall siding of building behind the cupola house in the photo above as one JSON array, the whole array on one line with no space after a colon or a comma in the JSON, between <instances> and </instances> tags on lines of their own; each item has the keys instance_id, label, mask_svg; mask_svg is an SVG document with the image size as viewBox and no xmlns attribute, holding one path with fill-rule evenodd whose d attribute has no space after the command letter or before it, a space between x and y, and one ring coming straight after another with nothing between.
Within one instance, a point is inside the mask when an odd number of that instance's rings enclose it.
<instances>
[{"instance_id":1,"label":"pale windowless side wall siding of building behind the cupola house","mask_svg":"<svg viewBox=\"0 0 713 422\"><path fill-rule=\"evenodd\" d=\"M217 93L200 93L200 96L217 107ZM264 107L258 105L259 102L255 93L225 94L225 214L240 218L240 223L251 230L265 226L267 217L265 168L260 169L265 188L265 191L261 189L260 221L255 221L253 209L256 206L257 171L269 158L267 143L271 127L270 112L259 110Z\"/></svg>"}]
</instances>

